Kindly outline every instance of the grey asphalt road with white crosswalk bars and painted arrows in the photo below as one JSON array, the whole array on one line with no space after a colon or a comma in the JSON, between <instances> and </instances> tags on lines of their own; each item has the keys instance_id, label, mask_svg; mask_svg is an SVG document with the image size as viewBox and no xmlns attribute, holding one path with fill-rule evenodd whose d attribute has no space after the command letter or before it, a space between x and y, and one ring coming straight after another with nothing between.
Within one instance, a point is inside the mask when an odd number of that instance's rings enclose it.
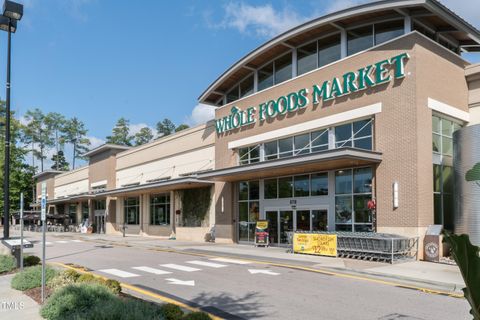
<instances>
[{"instance_id":1,"label":"grey asphalt road with white crosswalk bars and painted arrows","mask_svg":"<svg viewBox=\"0 0 480 320\"><path fill-rule=\"evenodd\" d=\"M29 251L41 256L41 245ZM47 260L79 264L226 319L471 319L464 299L241 260L50 236Z\"/></svg>"}]
</instances>

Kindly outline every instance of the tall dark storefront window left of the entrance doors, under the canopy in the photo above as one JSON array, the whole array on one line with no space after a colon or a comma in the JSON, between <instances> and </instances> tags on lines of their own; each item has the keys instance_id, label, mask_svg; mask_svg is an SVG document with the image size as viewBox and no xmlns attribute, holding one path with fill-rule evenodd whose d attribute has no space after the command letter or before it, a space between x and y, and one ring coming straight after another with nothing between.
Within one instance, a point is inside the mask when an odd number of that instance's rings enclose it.
<instances>
[{"instance_id":1,"label":"tall dark storefront window left of the entrance doors, under the canopy","mask_svg":"<svg viewBox=\"0 0 480 320\"><path fill-rule=\"evenodd\" d=\"M259 190L259 181L242 181L239 183L239 241L254 241L255 223L260 214Z\"/></svg>"}]
</instances>

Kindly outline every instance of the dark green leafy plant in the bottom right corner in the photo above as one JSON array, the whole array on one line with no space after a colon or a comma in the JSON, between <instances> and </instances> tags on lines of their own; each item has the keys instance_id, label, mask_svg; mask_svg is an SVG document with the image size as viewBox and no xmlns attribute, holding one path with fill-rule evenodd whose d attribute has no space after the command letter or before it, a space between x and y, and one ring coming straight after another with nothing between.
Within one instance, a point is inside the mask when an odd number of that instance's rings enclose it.
<instances>
[{"instance_id":1,"label":"dark green leafy plant in the bottom right corner","mask_svg":"<svg viewBox=\"0 0 480 320\"><path fill-rule=\"evenodd\" d=\"M470 314L474 320L480 320L480 248L474 246L466 234L444 232L443 241L452 248L452 257L462 273L466 285L463 295L472 307Z\"/></svg>"}]
</instances>

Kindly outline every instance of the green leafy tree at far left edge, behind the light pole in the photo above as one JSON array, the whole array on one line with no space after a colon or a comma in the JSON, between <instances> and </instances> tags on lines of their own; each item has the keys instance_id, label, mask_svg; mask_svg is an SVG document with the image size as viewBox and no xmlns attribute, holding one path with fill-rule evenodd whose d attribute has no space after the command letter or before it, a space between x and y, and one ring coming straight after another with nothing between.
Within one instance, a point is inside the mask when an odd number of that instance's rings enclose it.
<instances>
[{"instance_id":1,"label":"green leafy tree at far left edge, behind the light pole","mask_svg":"<svg viewBox=\"0 0 480 320\"><path fill-rule=\"evenodd\" d=\"M0 100L0 135L2 140L5 137L5 101ZM14 112L11 115L10 121L10 212L18 211L20 206L20 193L25 197L25 208L34 200L33 196L33 175L35 170L32 166L25 162L25 158L29 153L29 150L23 148L22 134L24 132L23 126L15 118ZM0 143L0 167L4 167L5 163L5 144ZM3 208L3 170L0 170L0 208ZM2 210L3 212L3 210Z\"/></svg>"}]
</instances>

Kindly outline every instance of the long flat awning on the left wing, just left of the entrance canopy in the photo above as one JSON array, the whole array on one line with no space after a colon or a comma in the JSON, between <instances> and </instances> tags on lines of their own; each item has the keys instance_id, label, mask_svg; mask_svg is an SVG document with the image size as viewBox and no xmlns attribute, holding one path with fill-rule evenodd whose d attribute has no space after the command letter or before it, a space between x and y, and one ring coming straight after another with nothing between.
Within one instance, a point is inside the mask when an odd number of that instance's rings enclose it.
<instances>
[{"instance_id":1,"label":"long flat awning on the left wing, just left of the entrance canopy","mask_svg":"<svg viewBox=\"0 0 480 320\"><path fill-rule=\"evenodd\" d=\"M195 177L181 177L177 179L169 179L156 181L145 184L138 184L128 187L117 188L110 191L99 192L97 197L101 196L129 196L138 195L145 191L148 192L166 192L170 190L190 189L211 186L213 182L199 180Z\"/></svg>"}]
</instances>

